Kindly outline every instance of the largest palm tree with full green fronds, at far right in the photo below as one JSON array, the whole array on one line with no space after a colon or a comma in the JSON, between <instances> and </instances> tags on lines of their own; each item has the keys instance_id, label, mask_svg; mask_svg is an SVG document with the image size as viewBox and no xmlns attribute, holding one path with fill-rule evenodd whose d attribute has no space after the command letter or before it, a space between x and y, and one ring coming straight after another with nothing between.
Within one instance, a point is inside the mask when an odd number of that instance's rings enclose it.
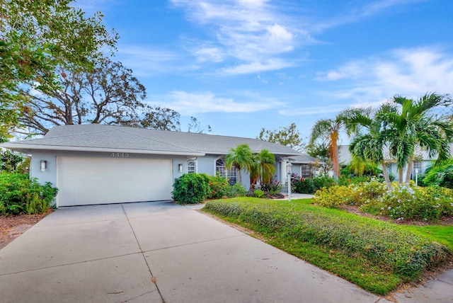
<instances>
[{"instance_id":1,"label":"largest palm tree with full green fronds, at far right","mask_svg":"<svg viewBox=\"0 0 453 303\"><path fill-rule=\"evenodd\" d=\"M437 164L449 158L449 142L453 139L453 122L447 118L435 118L432 113L439 106L452 104L445 95L427 93L418 101L395 96L398 110L384 116L389 151L396 158L399 182L403 182L403 168L407 166L406 182L411 179L416 147L427 149L430 157L437 154Z\"/></svg>"}]
</instances>

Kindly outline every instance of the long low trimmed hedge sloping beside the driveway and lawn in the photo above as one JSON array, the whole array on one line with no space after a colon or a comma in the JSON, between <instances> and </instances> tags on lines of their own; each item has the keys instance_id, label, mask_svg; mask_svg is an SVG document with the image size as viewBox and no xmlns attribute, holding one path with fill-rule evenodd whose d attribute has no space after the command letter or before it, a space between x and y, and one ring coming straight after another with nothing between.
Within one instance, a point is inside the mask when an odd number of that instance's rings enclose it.
<instances>
[{"instance_id":1,"label":"long low trimmed hedge sloping beside the driveway and lawn","mask_svg":"<svg viewBox=\"0 0 453 303\"><path fill-rule=\"evenodd\" d=\"M235 199L207 202L203 210L245 223L263 234L310 242L347 253L350 258L365 258L369 265L401 280L416 280L424 270L452 259L447 246L394 224L313 205Z\"/></svg>"}]
</instances>

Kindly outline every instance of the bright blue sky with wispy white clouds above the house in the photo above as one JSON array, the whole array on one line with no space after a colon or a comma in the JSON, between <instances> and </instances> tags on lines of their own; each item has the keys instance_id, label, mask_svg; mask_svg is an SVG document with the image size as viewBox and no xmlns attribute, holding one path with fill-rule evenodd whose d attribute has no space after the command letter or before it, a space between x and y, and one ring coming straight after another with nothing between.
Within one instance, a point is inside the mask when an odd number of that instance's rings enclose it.
<instances>
[{"instance_id":1,"label":"bright blue sky with wispy white clouds above the house","mask_svg":"<svg viewBox=\"0 0 453 303\"><path fill-rule=\"evenodd\" d=\"M399 94L453 93L451 0L80 0L120 35L146 101L212 134L316 120ZM345 140L345 139L344 139Z\"/></svg>"}]
</instances>

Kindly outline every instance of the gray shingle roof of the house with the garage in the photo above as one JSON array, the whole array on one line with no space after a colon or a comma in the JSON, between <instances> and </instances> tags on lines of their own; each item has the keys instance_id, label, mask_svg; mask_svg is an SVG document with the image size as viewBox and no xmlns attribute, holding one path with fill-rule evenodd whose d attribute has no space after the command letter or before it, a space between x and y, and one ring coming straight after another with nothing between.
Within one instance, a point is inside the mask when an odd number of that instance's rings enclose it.
<instances>
[{"instance_id":1,"label":"gray shingle roof of the house with the garage","mask_svg":"<svg viewBox=\"0 0 453 303\"><path fill-rule=\"evenodd\" d=\"M2 146L18 150L127 150L153 154L202 155L226 154L239 144L248 144L256 152L268 149L275 155L301 156L289 147L258 139L97 124L57 126L40 139L7 142Z\"/></svg>"}]
</instances>

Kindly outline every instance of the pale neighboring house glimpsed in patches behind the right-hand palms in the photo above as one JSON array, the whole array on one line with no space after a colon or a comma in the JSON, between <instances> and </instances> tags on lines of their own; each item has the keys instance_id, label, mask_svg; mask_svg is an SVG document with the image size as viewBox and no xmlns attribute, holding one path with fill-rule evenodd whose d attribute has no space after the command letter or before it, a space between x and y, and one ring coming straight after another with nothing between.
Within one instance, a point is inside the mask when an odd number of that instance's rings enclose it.
<instances>
[{"instance_id":1,"label":"pale neighboring house glimpsed in patches behind the right-hand palms","mask_svg":"<svg viewBox=\"0 0 453 303\"><path fill-rule=\"evenodd\" d=\"M452 153L453 157L453 143L450 144L450 152ZM436 156L437 157L437 156ZM415 161L413 161L413 168L412 168L412 178L415 178L415 172L424 173L426 168L432 165L432 161L435 161L436 157L430 158L428 151L418 149L415 151ZM349 151L349 145L340 145L338 147L338 159L340 164L348 165L351 161L351 154ZM389 150L384 150L384 159L386 161L387 171L395 176L395 180L398 180L398 167L396 166L395 159L392 159L389 155ZM403 170L403 176L406 176L405 168Z\"/></svg>"}]
</instances>

